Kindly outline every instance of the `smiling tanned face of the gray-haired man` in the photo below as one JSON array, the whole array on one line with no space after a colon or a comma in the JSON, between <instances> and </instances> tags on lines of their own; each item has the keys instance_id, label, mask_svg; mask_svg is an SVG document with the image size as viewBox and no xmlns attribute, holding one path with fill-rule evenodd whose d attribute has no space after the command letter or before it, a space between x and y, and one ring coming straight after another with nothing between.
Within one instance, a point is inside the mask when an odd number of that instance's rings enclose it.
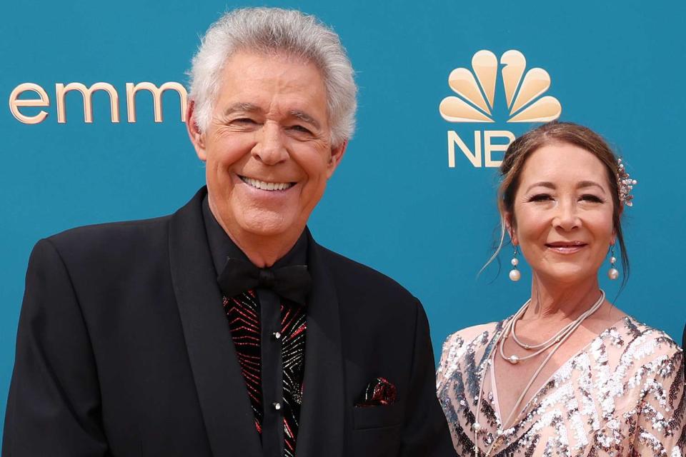
<instances>
[{"instance_id":1,"label":"smiling tanned face of the gray-haired man","mask_svg":"<svg viewBox=\"0 0 686 457\"><path fill-rule=\"evenodd\" d=\"M289 56L239 51L220 84L203 134L188 116L206 162L212 213L234 240L295 239L345 149L332 149L319 69Z\"/></svg>"}]
</instances>

